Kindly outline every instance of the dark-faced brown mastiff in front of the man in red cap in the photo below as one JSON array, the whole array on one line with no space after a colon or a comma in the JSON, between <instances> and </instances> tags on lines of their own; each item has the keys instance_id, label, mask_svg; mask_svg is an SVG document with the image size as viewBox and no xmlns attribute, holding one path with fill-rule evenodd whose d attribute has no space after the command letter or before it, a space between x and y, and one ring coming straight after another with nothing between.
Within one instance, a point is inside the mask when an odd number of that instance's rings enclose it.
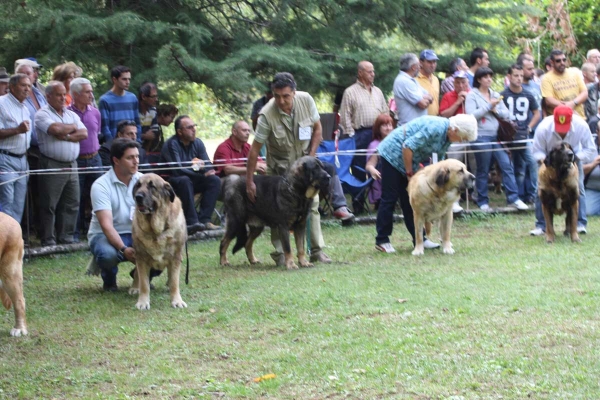
<instances>
[{"instance_id":1,"label":"dark-faced brown mastiff in front of the man in red cap","mask_svg":"<svg viewBox=\"0 0 600 400\"><path fill-rule=\"evenodd\" d=\"M577 233L579 170L573 148L562 142L550 151L538 171L538 196L546 221L546 242L554 242L554 215L567 214L565 232L581 242Z\"/></svg>"}]
</instances>

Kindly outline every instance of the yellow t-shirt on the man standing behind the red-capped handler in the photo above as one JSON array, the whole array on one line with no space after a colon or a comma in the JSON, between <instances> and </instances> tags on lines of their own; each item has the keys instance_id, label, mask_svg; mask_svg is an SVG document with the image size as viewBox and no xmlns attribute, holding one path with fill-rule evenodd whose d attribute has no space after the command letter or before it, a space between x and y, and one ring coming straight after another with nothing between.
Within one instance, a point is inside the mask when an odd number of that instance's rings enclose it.
<instances>
[{"instance_id":1,"label":"yellow t-shirt on the man standing behind the red-capped handler","mask_svg":"<svg viewBox=\"0 0 600 400\"><path fill-rule=\"evenodd\" d=\"M554 71L542 76L542 97L552 97L559 101L571 101L585 90L581 72L576 68L567 68L558 75ZM583 104L578 104L574 110L580 117L585 118ZM546 112L552 115L554 107L546 104Z\"/></svg>"}]
</instances>

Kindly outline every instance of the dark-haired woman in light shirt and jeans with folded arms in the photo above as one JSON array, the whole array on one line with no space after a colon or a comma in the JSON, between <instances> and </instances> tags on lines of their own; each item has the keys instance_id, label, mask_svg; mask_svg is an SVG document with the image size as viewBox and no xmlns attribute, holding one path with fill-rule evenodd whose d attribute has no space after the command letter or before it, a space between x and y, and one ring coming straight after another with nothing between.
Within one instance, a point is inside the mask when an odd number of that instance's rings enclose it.
<instances>
[{"instance_id":1,"label":"dark-haired woman in light shirt and jeans with folded arms","mask_svg":"<svg viewBox=\"0 0 600 400\"><path fill-rule=\"evenodd\" d=\"M488 197L488 174L492 158L498 162L502 172L502 183L506 191L506 200L509 206L518 210L527 210L529 207L519 199L515 173L510 157L498 141L498 118L507 119L508 109L500 99L500 94L491 89L494 72L482 67L477 70L474 78L474 87L467 95L465 111L477 119L477 141L482 145L477 146L475 159L477 160L477 173L475 185L477 186L477 205L481 211L490 211Z\"/></svg>"}]
</instances>

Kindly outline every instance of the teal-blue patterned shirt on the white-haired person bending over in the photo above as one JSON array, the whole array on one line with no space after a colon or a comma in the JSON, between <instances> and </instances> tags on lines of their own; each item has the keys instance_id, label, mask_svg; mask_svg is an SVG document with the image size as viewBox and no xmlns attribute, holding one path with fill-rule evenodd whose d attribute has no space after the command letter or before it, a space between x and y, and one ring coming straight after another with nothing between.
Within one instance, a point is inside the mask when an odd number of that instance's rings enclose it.
<instances>
[{"instance_id":1,"label":"teal-blue patterned shirt on the white-haired person bending over","mask_svg":"<svg viewBox=\"0 0 600 400\"><path fill-rule=\"evenodd\" d=\"M394 129L377 147L379 155L398 171L406 174L402 149L407 147L413 152L413 171L419 169L419 163L426 161L432 153L439 159L446 156L450 140L448 140L447 118L426 115L413 119L409 123Z\"/></svg>"}]
</instances>

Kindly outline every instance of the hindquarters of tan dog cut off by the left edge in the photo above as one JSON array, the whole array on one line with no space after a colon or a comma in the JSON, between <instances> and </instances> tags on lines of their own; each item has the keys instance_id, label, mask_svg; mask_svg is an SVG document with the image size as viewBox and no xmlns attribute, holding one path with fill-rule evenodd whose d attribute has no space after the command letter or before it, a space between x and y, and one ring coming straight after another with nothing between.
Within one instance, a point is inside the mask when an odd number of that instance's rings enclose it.
<instances>
[{"instance_id":1,"label":"hindquarters of tan dog cut off by the left edge","mask_svg":"<svg viewBox=\"0 0 600 400\"><path fill-rule=\"evenodd\" d=\"M21 226L0 212L0 300L7 310L15 308L11 336L27 335L23 297L23 237Z\"/></svg>"}]
</instances>

